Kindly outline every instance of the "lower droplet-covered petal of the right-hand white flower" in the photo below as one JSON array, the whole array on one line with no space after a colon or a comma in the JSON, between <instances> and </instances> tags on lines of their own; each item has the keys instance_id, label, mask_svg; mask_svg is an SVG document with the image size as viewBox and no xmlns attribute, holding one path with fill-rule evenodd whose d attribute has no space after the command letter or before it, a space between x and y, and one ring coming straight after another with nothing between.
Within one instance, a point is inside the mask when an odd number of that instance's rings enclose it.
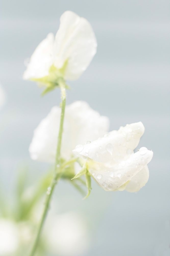
<instances>
[{"instance_id":1,"label":"lower droplet-covered petal of the right-hand white flower","mask_svg":"<svg viewBox=\"0 0 170 256\"><path fill-rule=\"evenodd\" d=\"M152 157L153 152L150 150L147 150L143 155L141 155L139 151L131 155L128 160L122 161L118 165L114 165L110 168L106 167L103 163L89 162L89 172L104 190L114 191L134 179L151 161ZM144 182L144 177L139 175L139 179L140 178L142 181L140 181L139 186L142 186L146 182L146 179ZM130 182L128 184L130 184ZM128 184L126 187L128 187Z\"/></svg>"}]
</instances>

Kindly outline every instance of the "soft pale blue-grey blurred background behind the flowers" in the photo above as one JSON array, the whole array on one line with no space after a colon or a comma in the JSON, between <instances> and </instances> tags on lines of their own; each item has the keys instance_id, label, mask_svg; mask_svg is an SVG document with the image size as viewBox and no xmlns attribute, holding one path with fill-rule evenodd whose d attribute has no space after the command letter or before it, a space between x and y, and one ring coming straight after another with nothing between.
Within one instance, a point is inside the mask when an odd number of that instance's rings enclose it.
<instances>
[{"instance_id":1,"label":"soft pale blue-grey blurred background behind the flowers","mask_svg":"<svg viewBox=\"0 0 170 256\"><path fill-rule=\"evenodd\" d=\"M56 190L62 199L60 212L79 210L89 219L91 247L86 256L170 255L164 254L170 243L170 1L0 2L0 81L7 98L0 112L4 191L13 191L20 163L28 163L37 179L47 168L30 160L28 146L34 128L59 103L59 91L41 98L36 84L22 81L23 62L49 32L56 33L60 15L72 10L92 24L98 52L81 78L69 83L68 103L86 100L109 116L111 129L142 121L146 131L139 147L152 149L154 157L149 182L137 194L106 193L93 183L91 196L82 201L61 183Z\"/></svg>"}]
</instances>

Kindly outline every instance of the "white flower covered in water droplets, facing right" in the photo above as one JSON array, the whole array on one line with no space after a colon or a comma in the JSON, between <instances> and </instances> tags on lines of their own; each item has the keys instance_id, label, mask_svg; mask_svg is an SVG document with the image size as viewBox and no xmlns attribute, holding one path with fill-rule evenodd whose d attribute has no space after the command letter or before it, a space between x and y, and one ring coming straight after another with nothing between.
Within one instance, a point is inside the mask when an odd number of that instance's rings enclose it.
<instances>
[{"instance_id":1,"label":"white flower covered in water droplets, facing right","mask_svg":"<svg viewBox=\"0 0 170 256\"><path fill-rule=\"evenodd\" d=\"M136 192L149 179L147 164L153 156L146 147L134 153L144 131L141 122L126 125L90 144L77 146L74 153L87 158L90 174L104 190Z\"/></svg>"}]
</instances>

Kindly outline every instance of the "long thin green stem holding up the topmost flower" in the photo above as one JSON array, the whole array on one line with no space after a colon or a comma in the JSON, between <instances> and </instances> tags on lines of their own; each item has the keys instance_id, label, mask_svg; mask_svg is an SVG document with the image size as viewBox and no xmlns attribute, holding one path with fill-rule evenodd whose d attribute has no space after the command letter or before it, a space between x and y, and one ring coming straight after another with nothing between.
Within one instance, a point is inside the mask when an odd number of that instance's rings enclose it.
<instances>
[{"instance_id":1,"label":"long thin green stem holding up the topmost flower","mask_svg":"<svg viewBox=\"0 0 170 256\"><path fill-rule=\"evenodd\" d=\"M58 132L58 141L57 141L54 175L53 175L53 178L51 180L50 186L47 189L44 211L43 211L43 214L41 216L41 220L40 220L40 223L39 223L39 226L38 226L37 235L36 235L36 238L35 238L30 256L34 256L34 254L37 250L38 242L39 242L39 239L40 239L40 234L41 234L41 231L43 229L43 225L45 223L45 219L46 219L46 216L47 216L47 213L48 213L48 210L49 210L49 204L50 204L50 201L51 201L51 197L52 197L55 185L57 184L58 180L61 177L61 175L58 174L58 173L60 173L60 152L61 152L61 143L62 143L65 106L66 106L66 91L65 91L64 81L60 80L59 83L60 83L60 87L61 87L61 99L62 99L61 104L62 105L61 105L60 128L59 128L59 132Z\"/></svg>"}]
</instances>

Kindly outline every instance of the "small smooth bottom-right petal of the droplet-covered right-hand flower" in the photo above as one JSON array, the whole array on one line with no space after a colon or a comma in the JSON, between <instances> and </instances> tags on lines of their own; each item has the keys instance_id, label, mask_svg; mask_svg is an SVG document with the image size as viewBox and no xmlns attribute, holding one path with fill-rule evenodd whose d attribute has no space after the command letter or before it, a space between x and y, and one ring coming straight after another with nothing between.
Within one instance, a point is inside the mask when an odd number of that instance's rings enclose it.
<instances>
[{"instance_id":1,"label":"small smooth bottom-right petal of the droplet-covered right-hand flower","mask_svg":"<svg viewBox=\"0 0 170 256\"><path fill-rule=\"evenodd\" d=\"M146 185L149 179L149 169L146 165L143 167L143 169L138 172L131 181L126 185L125 190L128 192L137 192L139 191L143 186Z\"/></svg>"}]
</instances>

